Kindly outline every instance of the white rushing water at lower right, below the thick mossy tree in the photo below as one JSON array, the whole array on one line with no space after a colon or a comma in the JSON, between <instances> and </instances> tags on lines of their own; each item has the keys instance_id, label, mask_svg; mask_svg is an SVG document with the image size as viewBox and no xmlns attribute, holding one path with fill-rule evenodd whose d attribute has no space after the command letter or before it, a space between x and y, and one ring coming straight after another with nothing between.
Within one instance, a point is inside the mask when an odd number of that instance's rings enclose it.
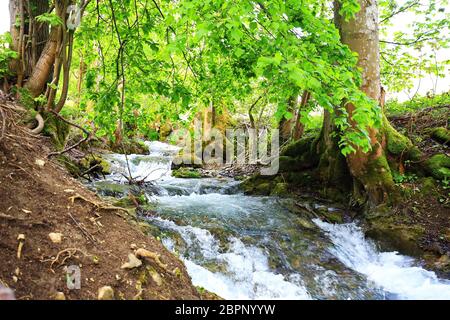
<instances>
[{"instance_id":1,"label":"white rushing water at lower right, below the thick mossy tree","mask_svg":"<svg viewBox=\"0 0 450 320\"><path fill-rule=\"evenodd\" d=\"M400 299L450 299L450 281L415 266L410 257L378 252L356 224L329 224L317 219L314 222L333 242L333 255L384 290L398 294Z\"/></svg>"}]
</instances>

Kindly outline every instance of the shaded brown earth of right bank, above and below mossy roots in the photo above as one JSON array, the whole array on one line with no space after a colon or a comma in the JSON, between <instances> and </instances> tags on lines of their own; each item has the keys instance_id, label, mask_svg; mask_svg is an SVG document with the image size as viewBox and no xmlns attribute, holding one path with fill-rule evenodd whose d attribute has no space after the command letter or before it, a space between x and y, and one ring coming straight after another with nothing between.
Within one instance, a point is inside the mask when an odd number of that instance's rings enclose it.
<instances>
[{"instance_id":1,"label":"shaded brown earth of right bank, above and below mossy roots","mask_svg":"<svg viewBox=\"0 0 450 320\"><path fill-rule=\"evenodd\" d=\"M449 144L436 141L432 134L436 128L448 128L449 117L450 105L439 104L395 112L389 120L429 158L450 155ZM406 162L404 173L394 173L403 199L384 214L369 214L368 234L385 249L421 255L429 268L450 277L450 181L421 177L410 170L412 166Z\"/></svg>"}]
</instances>

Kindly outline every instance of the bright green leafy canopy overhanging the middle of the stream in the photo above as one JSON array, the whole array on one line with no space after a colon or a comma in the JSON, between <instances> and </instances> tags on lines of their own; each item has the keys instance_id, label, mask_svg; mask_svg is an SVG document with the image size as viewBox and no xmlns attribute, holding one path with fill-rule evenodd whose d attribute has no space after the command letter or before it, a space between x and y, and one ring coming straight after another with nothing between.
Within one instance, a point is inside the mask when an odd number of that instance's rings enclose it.
<instances>
[{"instance_id":1,"label":"bright green leafy canopy overhanging the middle of the stream","mask_svg":"<svg viewBox=\"0 0 450 320\"><path fill-rule=\"evenodd\" d=\"M125 135L155 138L163 127L188 127L209 105L217 114L247 114L258 96L264 97L255 107L258 121L276 124L292 118L290 97L308 90L306 126L318 125L310 111L321 106L335 113L343 153L357 146L367 151L367 128L381 125L381 110L359 90L357 56L341 44L325 3L92 2L77 31L73 62L83 59L88 71L80 92L72 80L69 99L78 100L98 136L114 140L120 118ZM342 1L346 17L358 10L358 1ZM356 106L356 126L344 100Z\"/></svg>"}]
</instances>

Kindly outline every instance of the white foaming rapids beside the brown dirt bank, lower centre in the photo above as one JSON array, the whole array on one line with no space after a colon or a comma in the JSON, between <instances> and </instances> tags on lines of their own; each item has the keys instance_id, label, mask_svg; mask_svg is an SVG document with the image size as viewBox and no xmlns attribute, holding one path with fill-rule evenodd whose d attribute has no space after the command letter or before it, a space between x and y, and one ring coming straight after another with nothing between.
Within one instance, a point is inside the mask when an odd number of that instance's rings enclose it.
<instances>
[{"instance_id":1,"label":"white foaming rapids beside the brown dirt bank, lower centre","mask_svg":"<svg viewBox=\"0 0 450 320\"><path fill-rule=\"evenodd\" d=\"M193 245L199 246L204 259L226 265L226 273L211 272L184 258L194 285L218 293L225 299L310 299L300 276L292 275L286 279L271 271L268 257L260 248L244 245L239 239L231 237L228 251L220 253L218 241L208 230L178 226L161 218L155 218L154 221L178 232L191 248ZM165 238L163 243L174 251L174 243L170 238Z\"/></svg>"}]
</instances>

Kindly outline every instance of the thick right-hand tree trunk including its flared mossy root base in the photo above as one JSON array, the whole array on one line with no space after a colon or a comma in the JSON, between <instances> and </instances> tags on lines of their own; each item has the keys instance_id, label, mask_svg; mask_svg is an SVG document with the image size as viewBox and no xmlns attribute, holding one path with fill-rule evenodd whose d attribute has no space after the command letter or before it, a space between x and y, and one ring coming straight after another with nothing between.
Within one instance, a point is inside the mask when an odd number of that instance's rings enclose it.
<instances>
[{"instance_id":1,"label":"thick right-hand tree trunk including its flared mossy root base","mask_svg":"<svg viewBox=\"0 0 450 320\"><path fill-rule=\"evenodd\" d=\"M354 18L345 20L339 13L340 2L335 1L335 24L341 41L359 55L358 65L363 78L361 90L371 99L383 104L377 3L373 0L360 0L359 3L361 10ZM352 125L355 125L351 118L355 108L357 106L346 104ZM390 201L395 195L390 165L398 166L401 155L410 153L411 142L398 133L382 115L381 128L367 128L372 150L364 152L358 148L356 152L343 158L339 152L338 138L333 134L339 133L333 127L332 117L332 114L325 112L317 144L320 155L318 171L322 180L331 186L349 188L355 204L372 207ZM350 183L348 177L351 177Z\"/></svg>"}]
</instances>

